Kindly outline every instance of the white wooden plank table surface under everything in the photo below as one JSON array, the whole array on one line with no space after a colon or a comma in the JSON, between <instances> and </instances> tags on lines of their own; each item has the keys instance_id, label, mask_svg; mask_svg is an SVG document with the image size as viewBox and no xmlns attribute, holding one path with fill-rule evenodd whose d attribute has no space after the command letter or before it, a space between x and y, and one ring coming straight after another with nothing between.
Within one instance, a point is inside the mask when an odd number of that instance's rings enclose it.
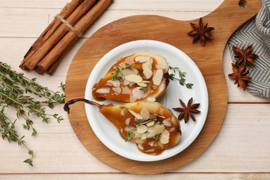
<instances>
[{"instance_id":1,"label":"white wooden plank table surface under everything","mask_svg":"<svg viewBox=\"0 0 270 180\"><path fill-rule=\"evenodd\" d=\"M69 64L82 43L105 24L129 15L196 19L215 10L222 0L115 0L84 37L69 48L52 76L19 69L28 48L68 2L0 0L0 61L56 91L60 82L65 81ZM35 138L18 129L35 152L34 167L23 163L28 158L24 147L0 141L0 179L270 179L270 100L252 96L228 79L232 70L227 46L223 63L228 87L226 117L215 141L195 161L172 172L151 176L114 170L84 148L62 105L58 105L53 111L62 114L65 119L62 123L35 121L38 131ZM8 115L15 118L12 111ZM17 122L18 127L20 124Z\"/></svg>"}]
</instances>

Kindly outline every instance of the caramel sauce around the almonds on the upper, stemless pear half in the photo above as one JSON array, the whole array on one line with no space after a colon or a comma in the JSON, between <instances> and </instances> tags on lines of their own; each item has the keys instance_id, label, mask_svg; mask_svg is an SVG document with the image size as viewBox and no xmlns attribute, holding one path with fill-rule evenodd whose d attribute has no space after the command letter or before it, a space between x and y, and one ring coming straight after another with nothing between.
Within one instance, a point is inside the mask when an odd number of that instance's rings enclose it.
<instances>
[{"instance_id":1,"label":"caramel sauce around the almonds on the upper, stemless pear half","mask_svg":"<svg viewBox=\"0 0 270 180\"><path fill-rule=\"evenodd\" d=\"M147 95L147 97L152 96L156 91L159 91L159 87L156 87L153 82L152 82L152 78L150 78L149 80L147 80L146 78L144 78L143 76L143 67L142 64L143 63L139 63L139 62L135 62L135 57L137 55L129 55L127 57L123 57L120 60L118 60L118 62L116 62L116 64L114 64L114 66L120 66L120 67L125 67L125 64L130 64L129 69L137 69L138 70L138 75L140 75L143 80L145 81L150 81L149 83L147 83L147 89L148 91L150 91L150 93ZM155 65L157 64L157 60L152 57L153 63L152 63L152 71L156 71L156 67ZM116 87L114 87L112 84L108 83L108 80L113 80L113 75L112 73L116 72L116 69L114 69L114 66L111 66L111 68L109 69L109 71L107 72L107 74L105 75L104 78L101 78L100 81L96 84L93 85L92 88L92 96L95 100L98 101L103 101L105 99L109 99L109 100L116 100L116 101L120 101L120 102L130 102L130 96L132 96L132 90L136 87L140 87L138 86L138 84L136 83L132 83L132 86L129 85L125 85L123 84L123 78L121 78L120 80L118 80L120 82L120 93L118 93L116 91ZM163 78L164 79L164 78ZM96 90L98 89L108 89L109 93L96 93ZM119 90L119 89L118 89ZM147 98L145 97L145 98ZM145 100L145 98L141 98L138 100Z\"/></svg>"}]
</instances>

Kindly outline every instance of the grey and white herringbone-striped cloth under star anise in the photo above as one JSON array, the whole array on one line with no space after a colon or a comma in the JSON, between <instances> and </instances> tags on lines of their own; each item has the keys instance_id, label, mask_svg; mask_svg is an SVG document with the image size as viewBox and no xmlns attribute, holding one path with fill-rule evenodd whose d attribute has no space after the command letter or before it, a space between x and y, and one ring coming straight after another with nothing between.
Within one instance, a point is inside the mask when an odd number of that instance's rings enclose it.
<instances>
[{"instance_id":1,"label":"grey and white herringbone-striped cloth under star anise","mask_svg":"<svg viewBox=\"0 0 270 180\"><path fill-rule=\"evenodd\" d=\"M235 62L233 46L246 49L253 44L252 53L259 57L254 60L255 66L246 66L252 78L246 89L255 96L270 98L270 0L261 1L258 15L233 33L228 47Z\"/></svg>"}]
</instances>

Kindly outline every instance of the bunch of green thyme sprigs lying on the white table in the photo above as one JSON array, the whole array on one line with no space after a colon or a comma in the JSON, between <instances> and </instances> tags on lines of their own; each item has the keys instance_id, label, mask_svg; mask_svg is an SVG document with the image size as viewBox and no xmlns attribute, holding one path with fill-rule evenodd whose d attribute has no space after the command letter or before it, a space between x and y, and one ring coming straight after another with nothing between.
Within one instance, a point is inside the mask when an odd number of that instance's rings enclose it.
<instances>
[{"instance_id":1,"label":"bunch of green thyme sprigs lying on the white table","mask_svg":"<svg viewBox=\"0 0 270 180\"><path fill-rule=\"evenodd\" d=\"M60 87L64 91L62 82ZM28 96L29 94L31 96ZM64 93L51 91L37 84L36 78L30 80L24 73L17 73L8 64L0 62L0 134L8 142L17 142L18 145L26 147L30 158L24 163L33 166L33 150L26 145L24 136L19 137L15 128L17 119L12 120L6 116L6 110L15 109L17 118L24 119L24 129L31 129L32 136L36 136L37 130L32 118L36 116L45 123L54 118L60 123L63 120L62 116L46 113L46 107L53 109L60 103L64 103Z\"/></svg>"}]
</instances>

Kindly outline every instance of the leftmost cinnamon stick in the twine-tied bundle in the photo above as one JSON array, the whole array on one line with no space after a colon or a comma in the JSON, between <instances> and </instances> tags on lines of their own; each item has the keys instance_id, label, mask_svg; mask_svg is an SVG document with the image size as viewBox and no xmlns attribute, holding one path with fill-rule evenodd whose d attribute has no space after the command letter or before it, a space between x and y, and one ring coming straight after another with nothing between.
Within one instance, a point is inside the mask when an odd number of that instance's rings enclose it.
<instances>
[{"instance_id":1,"label":"leftmost cinnamon stick in the twine-tied bundle","mask_svg":"<svg viewBox=\"0 0 270 180\"><path fill-rule=\"evenodd\" d=\"M71 13L82 3L84 0L73 0L70 3L66 4L66 6L61 10L60 16L66 19L71 15ZM57 19L53 19L51 24L42 32L42 34L37 38L34 44L29 48L26 55L24 55L24 60L21 64L24 64L36 51L37 49L46 42L46 40L51 37L51 35L55 32L55 30L61 25L60 21ZM20 65L21 67L21 65Z\"/></svg>"}]
</instances>

